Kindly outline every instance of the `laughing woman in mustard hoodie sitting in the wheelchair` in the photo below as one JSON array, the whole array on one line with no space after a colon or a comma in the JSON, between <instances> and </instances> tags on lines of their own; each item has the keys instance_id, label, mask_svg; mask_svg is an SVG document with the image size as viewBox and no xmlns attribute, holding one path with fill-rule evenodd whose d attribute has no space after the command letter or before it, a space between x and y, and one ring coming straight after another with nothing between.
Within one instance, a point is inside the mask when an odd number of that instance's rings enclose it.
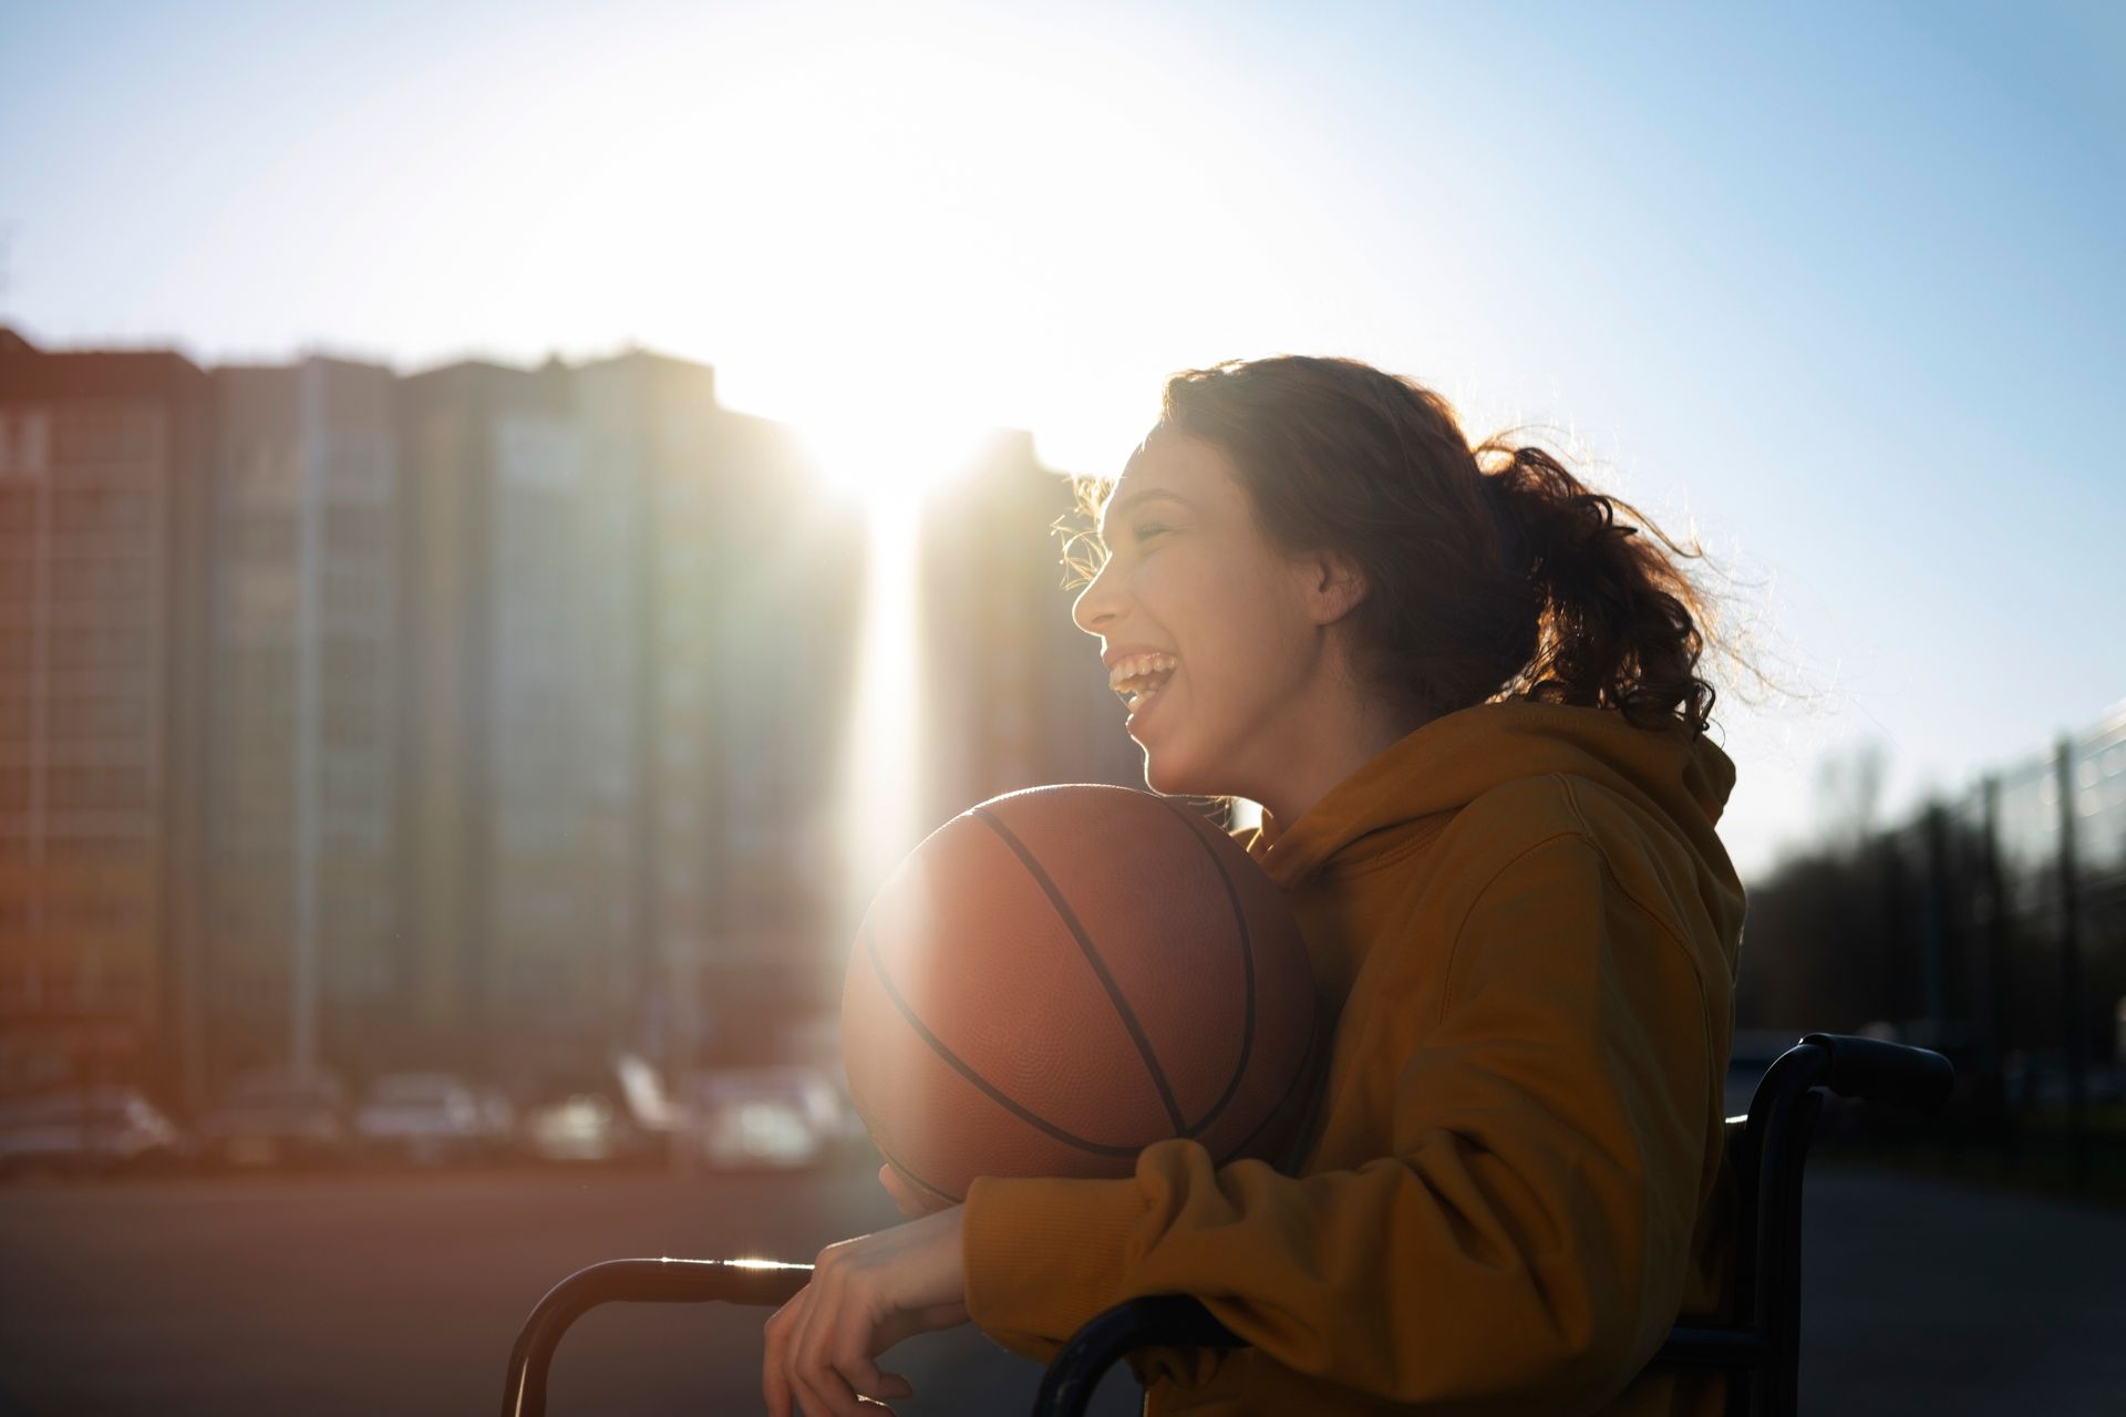
<instances>
[{"instance_id":1,"label":"laughing woman in mustard hoodie sitting in the wheelchair","mask_svg":"<svg viewBox=\"0 0 2126 1417\"><path fill-rule=\"evenodd\" d=\"M1337 1015L1307 1147L1163 1141L929 1215L882 1173L918 1217L770 1319L770 1413L908 1396L876 1355L914 1332L1048 1360L1159 1292L1252 1347L1140 1355L1150 1413L1714 1411L1646 1370L1720 1302L1743 916L1686 552L1344 359L1174 376L1099 540L1074 618L1146 782L1263 805L1242 841Z\"/></svg>"}]
</instances>

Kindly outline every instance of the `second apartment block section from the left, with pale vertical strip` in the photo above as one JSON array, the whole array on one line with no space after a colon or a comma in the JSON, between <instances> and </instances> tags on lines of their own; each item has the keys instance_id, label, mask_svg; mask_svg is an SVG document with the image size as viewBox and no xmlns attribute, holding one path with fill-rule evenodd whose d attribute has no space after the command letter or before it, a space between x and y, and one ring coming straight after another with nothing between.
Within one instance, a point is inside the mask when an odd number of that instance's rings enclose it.
<instances>
[{"instance_id":1,"label":"second apartment block section from the left, with pale vertical strip","mask_svg":"<svg viewBox=\"0 0 2126 1417\"><path fill-rule=\"evenodd\" d=\"M393 376L310 357L215 385L208 1071L389 1060Z\"/></svg>"}]
</instances>

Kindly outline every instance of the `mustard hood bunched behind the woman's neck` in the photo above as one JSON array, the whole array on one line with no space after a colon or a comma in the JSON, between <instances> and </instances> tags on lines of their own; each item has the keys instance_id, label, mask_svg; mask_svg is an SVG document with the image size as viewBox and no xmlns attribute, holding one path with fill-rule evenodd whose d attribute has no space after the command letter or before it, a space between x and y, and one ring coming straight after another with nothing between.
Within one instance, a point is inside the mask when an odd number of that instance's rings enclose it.
<instances>
[{"instance_id":1,"label":"mustard hood bunched behind the woman's neck","mask_svg":"<svg viewBox=\"0 0 2126 1417\"><path fill-rule=\"evenodd\" d=\"M1333 786L1297 822L1265 814L1248 854L1284 890L1437 831L1490 788L1567 773L1618 792L1658 820L1699 860L1699 894L1735 939L1743 894L1714 826L1735 790L1735 765L1705 735L1635 729L1616 710L1556 703L1480 703L1416 729Z\"/></svg>"}]
</instances>

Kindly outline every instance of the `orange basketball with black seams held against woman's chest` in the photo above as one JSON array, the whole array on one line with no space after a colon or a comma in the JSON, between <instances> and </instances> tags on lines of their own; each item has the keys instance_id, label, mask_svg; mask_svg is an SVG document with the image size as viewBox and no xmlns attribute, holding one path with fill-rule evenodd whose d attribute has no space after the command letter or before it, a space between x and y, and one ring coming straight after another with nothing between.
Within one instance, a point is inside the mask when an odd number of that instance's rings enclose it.
<instances>
[{"instance_id":1,"label":"orange basketball with black seams held against woman's chest","mask_svg":"<svg viewBox=\"0 0 2126 1417\"><path fill-rule=\"evenodd\" d=\"M1271 1164L1314 1090L1314 975L1282 892L1188 805L1008 792L878 890L842 990L850 1096L910 1185L1127 1177L1188 1137Z\"/></svg>"}]
</instances>

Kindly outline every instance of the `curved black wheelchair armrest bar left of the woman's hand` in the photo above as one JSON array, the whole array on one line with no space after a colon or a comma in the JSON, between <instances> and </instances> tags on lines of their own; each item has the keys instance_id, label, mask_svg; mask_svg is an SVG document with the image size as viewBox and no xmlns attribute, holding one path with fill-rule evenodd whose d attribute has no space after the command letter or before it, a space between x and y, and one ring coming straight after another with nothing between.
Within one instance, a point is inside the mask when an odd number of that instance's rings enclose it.
<instances>
[{"instance_id":1,"label":"curved black wheelchair armrest bar left of the woman's hand","mask_svg":"<svg viewBox=\"0 0 2126 1417\"><path fill-rule=\"evenodd\" d=\"M532 1307L517 1330L502 1387L502 1417L544 1417L546 1368L568 1326L597 1304L784 1304L812 1279L810 1264L774 1260L606 1260L576 1270Z\"/></svg>"}]
</instances>

